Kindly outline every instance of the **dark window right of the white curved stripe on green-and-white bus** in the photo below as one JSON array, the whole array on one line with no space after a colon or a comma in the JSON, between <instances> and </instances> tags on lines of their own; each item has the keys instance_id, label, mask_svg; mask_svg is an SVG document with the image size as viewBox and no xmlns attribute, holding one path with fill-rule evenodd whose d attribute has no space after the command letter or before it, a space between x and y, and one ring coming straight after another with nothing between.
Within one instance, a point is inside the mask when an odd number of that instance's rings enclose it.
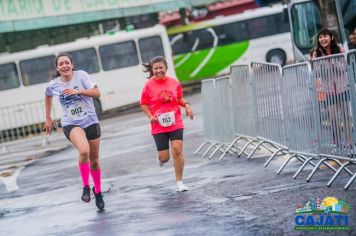
<instances>
[{"instance_id":1,"label":"dark window right of the white curved stripe on green-and-white bus","mask_svg":"<svg viewBox=\"0 0 356 236\"><path fill-rule=\"evenodd\" d=\"M216 26L214 30L219 38L219 46L248 40L248 33L244 22Z\"/></svg>"}]
</instances>

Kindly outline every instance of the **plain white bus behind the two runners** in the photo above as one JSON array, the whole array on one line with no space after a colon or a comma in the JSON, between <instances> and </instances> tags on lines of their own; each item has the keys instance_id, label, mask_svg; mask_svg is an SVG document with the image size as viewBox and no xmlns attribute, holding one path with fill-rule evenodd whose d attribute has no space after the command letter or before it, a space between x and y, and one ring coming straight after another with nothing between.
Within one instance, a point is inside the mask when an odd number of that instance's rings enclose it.
<instances>
[{"instance_id":1,"label":"plain white bus behind the two runners","mask_svg":"<svg viewBox=\"0 0 356 236\"><path fill-rule=\"evenodd\" d=\"M94 105L99 116L139 101L147 77L142 63L152 57L164 56L167 73L176 77L167 32L160 25L4 54L0 56L0 130L45 121L44 91L56 71L54 58L61 52L71 54L74 68L88 72L98 83L101 97L94 99ZM61 116L58 103L53 112Z\"/></svg>"}]
</instances>

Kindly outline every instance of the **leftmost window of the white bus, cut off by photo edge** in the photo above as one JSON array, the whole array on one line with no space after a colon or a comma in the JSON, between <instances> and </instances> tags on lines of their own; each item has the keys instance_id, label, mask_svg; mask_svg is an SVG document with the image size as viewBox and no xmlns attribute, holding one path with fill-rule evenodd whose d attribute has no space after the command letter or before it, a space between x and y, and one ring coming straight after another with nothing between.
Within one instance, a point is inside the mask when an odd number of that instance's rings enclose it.
<instances>
[{"instance_id":1,"label":"leftmost window of the white bus, cut off by photo edge","mask_svg":"<svg viewBox=\"0 0 356 236\"><path fill-rule=\"evenodd\" d=\"M0 91L19 86L20 81L15 63L0 65Z\"/></svg>"}]
</instances>

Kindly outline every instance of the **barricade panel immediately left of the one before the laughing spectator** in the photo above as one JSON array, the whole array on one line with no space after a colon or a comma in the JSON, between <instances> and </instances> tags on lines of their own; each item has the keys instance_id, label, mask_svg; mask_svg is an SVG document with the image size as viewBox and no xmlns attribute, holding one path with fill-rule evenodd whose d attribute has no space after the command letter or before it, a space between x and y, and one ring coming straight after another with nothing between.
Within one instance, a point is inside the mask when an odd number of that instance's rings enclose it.
<instances>
[{"instance_id":1,"label":"barricade panel immediately left of the one before the laughing spectator","mask_svg":"<svg viewBox=\"0 0 356 236\"><path fill-rule=\"evenodd\" d=\"M315 121L315 87L312 84L309 63L283 68L283 111L287 146L292 153L311 156L319 151Z\"/></svg>"}]
</instances>

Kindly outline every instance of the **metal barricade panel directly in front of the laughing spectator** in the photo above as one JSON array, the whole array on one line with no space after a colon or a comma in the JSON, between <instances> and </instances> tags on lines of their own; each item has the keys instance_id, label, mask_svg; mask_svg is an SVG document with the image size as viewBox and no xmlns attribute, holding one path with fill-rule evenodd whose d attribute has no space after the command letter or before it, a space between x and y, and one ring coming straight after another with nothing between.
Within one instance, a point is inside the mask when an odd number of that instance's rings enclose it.
<instances>
[{"instance_id":1,"label":"metal barricade panel directly in front of the laughing spectator","mask_svg":"<svg viewBox=\"0 0 356 236\"><path fill-rule=\"evenodd\" d=\"M354 153L354 142L345 55L318 58L312 61L312 68L314 83L318 85L319 152L323 155L350 156Z\"/></svg>"}]
</instances>

